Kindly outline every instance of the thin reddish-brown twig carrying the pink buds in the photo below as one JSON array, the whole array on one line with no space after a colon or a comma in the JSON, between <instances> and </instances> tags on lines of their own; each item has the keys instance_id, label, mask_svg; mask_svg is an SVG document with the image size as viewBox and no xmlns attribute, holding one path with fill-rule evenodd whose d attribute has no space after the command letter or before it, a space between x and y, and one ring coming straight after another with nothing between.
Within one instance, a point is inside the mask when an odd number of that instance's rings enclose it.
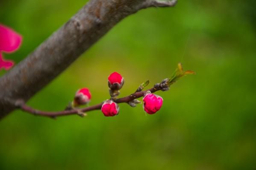
<instances>
[{"instance_id":1,"label":"thin reddish-brown twig carrying the pink buds","mask_svg":"<svg viewBox=\"0 0 256 170\"><path fill-rule=\"evenodd\" d=\"M159 91L161 89L156 89L156 88L150 88L147 91L150 91L151 93L154 93L156 91ZM144 94L147 91L140 91L140 92L136 92L134 94L131 94L129 96L120 98L120 99L116 99L115 102L116 103L128 103L130 101L132 101L133 99L138 99L142 96L144 96ZM57 111L57 112L46 112L46 111L38 111L35 110L29 106L27 106L23 101L18 101L16 103L18 108L21 108L21 110L26 111L28 113L32 113L34 115L38 115L38 116L47 116L47 117L52 117L55 118L57 116L67 116L67 115L72 115L72 114L79 114L80 112L88 112L88 111L93 111L93 110L99 110L101 109L103 103L97 104L97 105L93 105L87 108L81 108L81 109L73 109L73 110L69 110L69 111Z\"/></svg>"}]
</instances>

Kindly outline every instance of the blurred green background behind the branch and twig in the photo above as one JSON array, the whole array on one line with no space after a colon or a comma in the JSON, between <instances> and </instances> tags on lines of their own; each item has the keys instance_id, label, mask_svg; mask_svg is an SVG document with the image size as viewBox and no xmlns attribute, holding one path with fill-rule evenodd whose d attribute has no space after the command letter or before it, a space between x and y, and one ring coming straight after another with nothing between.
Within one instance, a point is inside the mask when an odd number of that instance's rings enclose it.
<instances>
[{"instance_id":1,"label":"blurred green background behind the branch and twig","mask_svg":"<svg viewBox=\"0 0 256 170\"><path fill-rule=\"evenodd\" d=\"M0 0L0 23L24 37L5 58L24 59L85 2ZM154 115L126 104L110 118L100 111L57 120L13 112L0 121L0 169L255 170L254 0L179 0L175 8L141 10L28 104L62 110L78 88L87 87L94 105L109 98L113 71L125 78L126 96L147 79L152 86L170 77L178 62L197 74L157 92L164 104Z\"/></svg>"}]
</instances>

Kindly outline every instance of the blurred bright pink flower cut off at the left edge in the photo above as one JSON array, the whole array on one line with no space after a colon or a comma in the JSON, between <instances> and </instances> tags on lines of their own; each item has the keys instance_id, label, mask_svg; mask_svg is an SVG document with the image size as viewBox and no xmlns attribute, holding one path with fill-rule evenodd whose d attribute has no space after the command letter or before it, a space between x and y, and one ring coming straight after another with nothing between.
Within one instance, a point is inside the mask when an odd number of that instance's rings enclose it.
<instances>
[{"instance_id":1,"label":"blurred bright pink flower cut off at the left edge","mask_svg":"<svg viewBox=\"0 0 256 170\"><path fill-rule=\"evenodd\" d=\"M22 37L20 34L12 30L12 28L0 24L0 69L9 70L14 62L12 60L4 60L2 51L11 53L16 51L21 45Z\"/></svg>"}]
</instances>

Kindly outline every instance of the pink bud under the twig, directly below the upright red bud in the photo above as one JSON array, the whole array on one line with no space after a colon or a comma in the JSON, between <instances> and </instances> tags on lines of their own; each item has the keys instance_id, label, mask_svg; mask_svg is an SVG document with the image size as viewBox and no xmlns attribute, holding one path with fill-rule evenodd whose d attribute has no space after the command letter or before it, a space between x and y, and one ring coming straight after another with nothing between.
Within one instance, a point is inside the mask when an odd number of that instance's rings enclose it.
<instances>
[{"instance_id":1,"label":"pink bud under the twig, directly below the upright red bud","mask_svg":"<svg viewBox=\"0 0 256 170\"><path fill-rule=\"evenodd\" d=\"M101 107L101 111L105 116L115 116L119 112L119 106L112 100L106 100Z\"/></svg>"}]
</instances>

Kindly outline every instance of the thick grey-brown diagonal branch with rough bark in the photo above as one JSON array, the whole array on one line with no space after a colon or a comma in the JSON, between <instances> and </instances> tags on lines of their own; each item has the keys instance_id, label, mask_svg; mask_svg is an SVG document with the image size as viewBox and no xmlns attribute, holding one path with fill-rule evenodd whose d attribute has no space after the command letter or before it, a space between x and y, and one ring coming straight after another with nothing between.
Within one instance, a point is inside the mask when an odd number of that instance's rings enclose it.
<instances>
[{"instance_id":1,"label":"thick grey-brown diagonal branch with rough bark","mask_svg":"<svg viewBox=\"0 0 256 170\"><path fill-rule=\"evenodd\" d=\"M91 0L26 59L0 78L0 118L64 71L124 17L141 8L173 6L175 1Z\"/></svg>"}]
</instances>

